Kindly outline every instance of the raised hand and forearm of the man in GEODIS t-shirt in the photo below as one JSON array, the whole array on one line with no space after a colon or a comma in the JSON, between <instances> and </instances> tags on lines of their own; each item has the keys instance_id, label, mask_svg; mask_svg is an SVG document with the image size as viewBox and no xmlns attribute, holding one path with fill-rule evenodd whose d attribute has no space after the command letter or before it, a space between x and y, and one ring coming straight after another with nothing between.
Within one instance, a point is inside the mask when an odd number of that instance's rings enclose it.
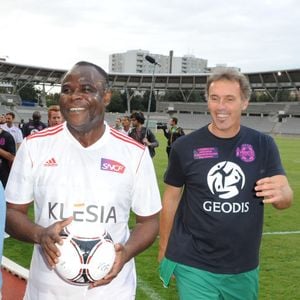
<instances>
[{"instance_id":1,"label":"raised hand and forearm of the man in GEODIS t-shirt","mask_svg":"<svg viewBox=\"0 0 300 300\"><path fill-rule=\"evenodd\" d=\"M256 196L263 197L263 203L271 203L277 209L292 205L293 191L285 175L265 177L256 182Z\"/></svg>"}]
</instances>

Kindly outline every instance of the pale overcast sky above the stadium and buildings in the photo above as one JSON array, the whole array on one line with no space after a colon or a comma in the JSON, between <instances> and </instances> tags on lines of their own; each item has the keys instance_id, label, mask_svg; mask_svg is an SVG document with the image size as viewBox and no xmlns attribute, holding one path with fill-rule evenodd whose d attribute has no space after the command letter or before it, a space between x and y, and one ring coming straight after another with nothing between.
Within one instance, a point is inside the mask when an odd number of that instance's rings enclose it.
<instances>
[{"instance_id":1,"label":"pale overcast sky above the stadium and buildings","mask_svg":"<svg viewBox=\"0 0 300 300\"><path fill-rule=\"evenodd\" d=\"M109 71L128 50L194 55L242 72L300 68L298 0L0 0L0 57Z\"/></svg>"}]
</instances>

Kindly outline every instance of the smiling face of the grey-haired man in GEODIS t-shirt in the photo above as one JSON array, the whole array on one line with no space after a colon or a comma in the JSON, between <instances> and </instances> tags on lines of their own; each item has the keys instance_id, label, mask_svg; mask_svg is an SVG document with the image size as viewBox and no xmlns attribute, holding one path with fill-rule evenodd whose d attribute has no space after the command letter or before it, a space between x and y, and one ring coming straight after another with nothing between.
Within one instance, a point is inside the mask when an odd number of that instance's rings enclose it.
<instances>
[{"instance_id":1,"label":"smiling face of the grey-haired man in GEODIS t-shirt","mask_svg":"<svg viewBox=\"0 0 300 300\"><path fill-rule=\"evenodd\" d=\"M227 79L212 82L207 102L212 118L209 130L218 137L235 136L240 130L242 111L248 106L248 100L241 95L240 84Z\"/></svg>"}]
</instances>

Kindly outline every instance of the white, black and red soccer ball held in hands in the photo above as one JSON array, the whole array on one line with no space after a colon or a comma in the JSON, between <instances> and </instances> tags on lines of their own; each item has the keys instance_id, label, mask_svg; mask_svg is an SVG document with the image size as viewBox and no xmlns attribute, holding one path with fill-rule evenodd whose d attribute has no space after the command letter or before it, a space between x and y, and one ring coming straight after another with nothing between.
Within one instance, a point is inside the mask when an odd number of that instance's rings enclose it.
<instances>
[{"instance_id":1,"label":"white, black and red soccer ball held in hands","mask_svg":"<svg viewBox=\"0 0 300 300\"><path fill-rule=\"evenodd\" d=\"M111 270L116 253L107 231L96 237L82 237L65 227L60 235L63 244L57 244L61 256L55 270L61 278L86 285L102 279Z\"/></svg>"}]
</instances>

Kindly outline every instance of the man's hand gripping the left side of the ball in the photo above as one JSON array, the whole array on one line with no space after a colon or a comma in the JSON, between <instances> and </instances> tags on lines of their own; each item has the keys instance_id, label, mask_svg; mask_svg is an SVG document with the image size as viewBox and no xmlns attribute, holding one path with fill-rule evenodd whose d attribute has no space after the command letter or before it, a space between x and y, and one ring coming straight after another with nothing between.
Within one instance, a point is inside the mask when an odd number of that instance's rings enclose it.
<instances>
[{"instance_id":1,"label":"man's hand gripping the left side of the ball","mask_svg":"<svg viewBox=\"0 0 300 300\"><path fill-rule=\"evenodd\" d=\"M69 217L63 221L58 221L49 227L45 227L41 232L40 245L44 251L44 256L51 268L54 268L58 262L60 252L56 247L56 243L62 244L60 232L64 227L69 225L73 220L73 217Z\"/></svg>"}]
</instances>

